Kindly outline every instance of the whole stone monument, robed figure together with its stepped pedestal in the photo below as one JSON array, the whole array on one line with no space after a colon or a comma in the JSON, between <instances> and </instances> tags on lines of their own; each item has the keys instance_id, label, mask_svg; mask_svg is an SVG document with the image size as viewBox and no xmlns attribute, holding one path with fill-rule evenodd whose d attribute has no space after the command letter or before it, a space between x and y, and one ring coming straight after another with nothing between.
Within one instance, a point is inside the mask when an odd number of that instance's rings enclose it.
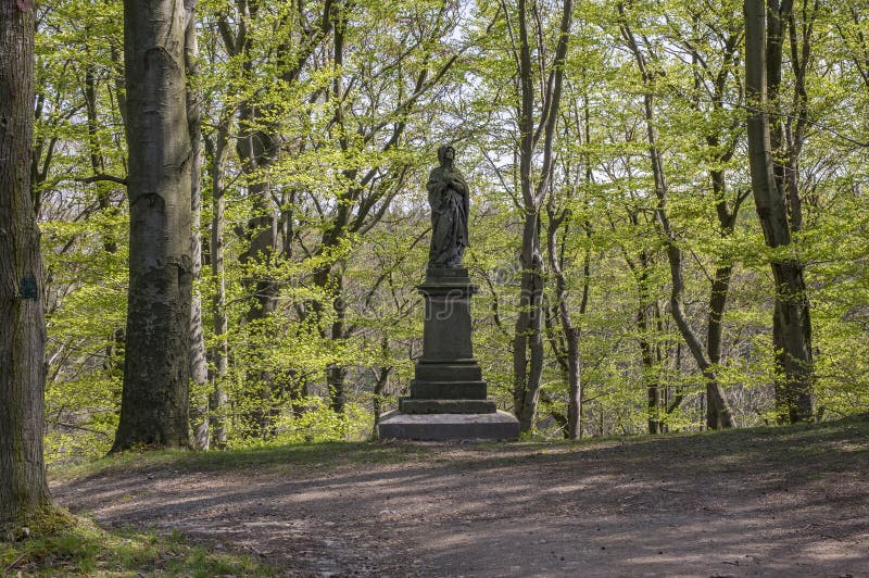
<instances>
[{"instance_id":1,"label":"whole stone monument, robed figure together with its stepped pedestal","mask_svg":"<svg viewBox=\"0 0 869 578\"><path fill-rule=\"evenodd\" d=\"M411 394L399 398L398 411L380 416L380 439L519 439L519 422L489 399L474 357L470 299L477 286L462 266L468 246L468 185L454 160L452 147L440 147L440 165L426 185L431 249L426 280L416 286L426 302L423 355L416 360Z\"/></svg>"}]
</instances>

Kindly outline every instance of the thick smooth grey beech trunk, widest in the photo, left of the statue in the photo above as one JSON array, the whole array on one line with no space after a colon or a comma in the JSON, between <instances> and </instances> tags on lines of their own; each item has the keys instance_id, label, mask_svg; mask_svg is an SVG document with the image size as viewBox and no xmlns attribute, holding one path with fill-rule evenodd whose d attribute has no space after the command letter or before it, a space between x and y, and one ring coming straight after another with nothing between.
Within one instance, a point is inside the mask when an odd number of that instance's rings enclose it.
<instances>
[{"instance_id":1,"label":"thick smooth grey beech trunk, widest in the photo, left of the statue","mask_svg":"<svg viewBox=\"0 0 869 578\"><path fill-rule=\"evenodd\" d=\"M182 2L125 0L127 344L112 451L188 448L192 259Z\"/></svg>"}]
</instances>

